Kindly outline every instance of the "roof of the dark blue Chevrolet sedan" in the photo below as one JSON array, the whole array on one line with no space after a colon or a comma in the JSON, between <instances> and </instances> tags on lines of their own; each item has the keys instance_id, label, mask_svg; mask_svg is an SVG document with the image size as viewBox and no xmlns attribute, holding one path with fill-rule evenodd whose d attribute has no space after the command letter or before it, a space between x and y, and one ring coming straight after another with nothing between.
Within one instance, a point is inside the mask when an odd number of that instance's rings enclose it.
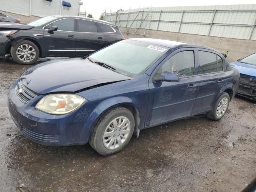
<instances>
[{"instance_id":1,"label":"roof of the dark blue Chevrolet sedan","mask_svg":"<svg viewBox=\"0 0 256 192\"><path fill-rule=\"evenodd\" d=\"M146 43L150 43L150 44L165 46L165 47L168 47L168 48L172 48L174 46L177 46L177 47L194 47L194 48L204 48L204 49L209 49L209 50L216 51L216 50L214 50L210 47L206 47L206 46L188 44L188 43L183 43L183 42L178 42L178 41L171 41L171 40L166 40L166 39L130 38L129 40L146 42Z\"/></svg>"}]
</instances>

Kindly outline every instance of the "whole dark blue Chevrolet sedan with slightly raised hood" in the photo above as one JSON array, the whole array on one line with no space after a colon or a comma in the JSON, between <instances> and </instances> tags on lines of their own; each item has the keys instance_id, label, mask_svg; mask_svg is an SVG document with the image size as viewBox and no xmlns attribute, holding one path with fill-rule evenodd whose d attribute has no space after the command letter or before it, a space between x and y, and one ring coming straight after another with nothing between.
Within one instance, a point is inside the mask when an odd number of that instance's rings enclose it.
<instances>
[{"instance_id":1,"label":"whole dark blue Chevrolet sedan with slightly raised hood","mask_svg":"<svg viewBox=\"0 0 256 192\"><path fill-rule=\"evenodd\" d=\"M134 38L26 70L11 86L8 106L35 142L89 141L109 155L144 128L203 113L220 120L238 86L239 72L216 50Z\"/></svg>"}]
</instances>

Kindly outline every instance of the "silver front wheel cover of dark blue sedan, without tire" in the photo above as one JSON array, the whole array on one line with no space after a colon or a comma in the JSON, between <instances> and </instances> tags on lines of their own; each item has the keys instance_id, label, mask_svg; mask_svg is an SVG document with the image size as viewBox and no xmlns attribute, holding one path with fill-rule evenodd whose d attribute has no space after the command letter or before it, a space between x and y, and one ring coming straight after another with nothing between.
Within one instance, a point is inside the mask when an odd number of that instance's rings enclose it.
<instances>
[{"instance_id":1,"label":"silver front wheel cover of dark blue sedan, without tire","mask_svg":"<svg viewBox=\"0 0 256 192\"><path fill-rule=\"evenodd\" d=\"M103 134L103 144L113 150L122 146L130 134L131 125L126 117L117 117L106 127Z\"/></svg>"}]
</instances>

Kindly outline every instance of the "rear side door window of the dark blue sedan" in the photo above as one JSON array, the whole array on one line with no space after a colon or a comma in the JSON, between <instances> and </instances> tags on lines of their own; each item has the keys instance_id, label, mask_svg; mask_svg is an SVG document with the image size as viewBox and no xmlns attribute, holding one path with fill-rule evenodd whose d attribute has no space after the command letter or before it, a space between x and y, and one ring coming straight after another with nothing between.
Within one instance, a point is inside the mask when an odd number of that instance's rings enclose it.
<instances>
[{"instance_id":1,"label":"rear side door window of the dark blue sedan","mask_svg":"<svg viewBox=\"0 0 256 192\"><path fill-rule=\"evenodd\" d=\"M222 59L214 53L199 51L198 58L200 63L198 74L213 73L223 70Z\"/></svg>"}]
</instances>

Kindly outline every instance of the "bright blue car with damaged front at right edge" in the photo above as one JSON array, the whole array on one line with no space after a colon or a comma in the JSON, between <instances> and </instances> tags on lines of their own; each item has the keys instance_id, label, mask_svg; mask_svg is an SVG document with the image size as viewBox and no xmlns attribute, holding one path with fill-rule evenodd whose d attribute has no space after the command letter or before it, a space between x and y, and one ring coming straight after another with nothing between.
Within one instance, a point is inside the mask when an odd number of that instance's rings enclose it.
<instances>
[{"instance_id":1,"label":"bright blue car with damaged front at right edge","mask_svg":"<svg viewBox=\"0 0 256 192\"><path fill-rule=\"evenodd\" d=\"M256 53L230 63L240 73L237 94L256 101Z\"/></svg>"}]
</instances>

